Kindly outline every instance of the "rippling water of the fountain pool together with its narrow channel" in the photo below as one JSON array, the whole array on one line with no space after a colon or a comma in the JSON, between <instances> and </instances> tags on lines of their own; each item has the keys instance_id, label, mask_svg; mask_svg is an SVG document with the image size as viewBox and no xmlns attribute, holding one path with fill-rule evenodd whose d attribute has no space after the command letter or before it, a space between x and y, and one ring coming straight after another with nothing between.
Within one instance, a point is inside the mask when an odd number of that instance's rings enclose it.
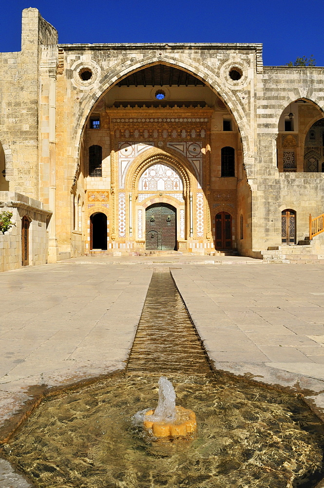
<instances>
[{"instance_id":1,"label":"rippling water of the fountain pool together with its narrow channel","mask_svg":"<svg viewBox=\"0 0 324 488\"><path fill-rule=\"evenodd\" d=\"M196 413L193 434L133 425L160 375ZM5 455L37 488L312 488L323 447L301 399L212 371L170 273L153 273L126 372L42 402Z\"/></svg>"}]
</instances>

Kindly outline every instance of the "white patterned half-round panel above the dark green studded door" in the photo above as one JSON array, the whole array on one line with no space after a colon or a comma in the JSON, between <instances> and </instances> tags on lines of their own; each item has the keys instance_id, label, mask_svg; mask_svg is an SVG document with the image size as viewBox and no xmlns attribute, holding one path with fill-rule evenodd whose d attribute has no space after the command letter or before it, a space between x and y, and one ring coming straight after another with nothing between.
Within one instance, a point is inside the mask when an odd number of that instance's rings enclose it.
<instances>
[{"instance_id":1,"label":"white patterned half-round panel above the dark green studded door","mask_svg":"<svg viewBox=\"0 0 324 488\"><path fill-rule=\"evenodd\" d=\"M182 180L178 173L166 164L154 164L144 171L138 182L139 191L182 190Z\"/></svg>"}]
</instances>

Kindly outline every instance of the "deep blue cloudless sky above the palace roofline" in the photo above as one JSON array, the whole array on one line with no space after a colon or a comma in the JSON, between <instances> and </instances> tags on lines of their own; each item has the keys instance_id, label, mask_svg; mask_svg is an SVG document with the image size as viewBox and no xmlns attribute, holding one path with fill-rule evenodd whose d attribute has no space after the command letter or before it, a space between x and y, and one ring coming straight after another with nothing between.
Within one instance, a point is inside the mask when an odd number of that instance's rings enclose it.
<instances>
[{"instance_id":1,"label":"deep blue cloudless sky above the palace roofline","mask_svg":"<svg viewBox=\"0 0 324 488\"><path fill-rule=\"evenodd\" d=\"M2 0L0 51L19 51L21 11L36 7L61 43L262 42L265 65L324 66L323 0Z\"/></svg>"}]
</instances>

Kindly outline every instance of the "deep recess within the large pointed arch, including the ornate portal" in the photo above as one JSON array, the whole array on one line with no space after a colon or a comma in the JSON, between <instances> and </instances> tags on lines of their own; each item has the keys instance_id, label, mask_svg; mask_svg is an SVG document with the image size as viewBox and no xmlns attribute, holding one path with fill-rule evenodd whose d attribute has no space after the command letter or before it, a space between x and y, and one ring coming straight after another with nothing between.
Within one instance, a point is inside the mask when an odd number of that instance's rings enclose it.
<instances>
[{"instance_id":1,"label":"deep recess within the large pointed arch, including the ornate portal","mask_svg":"<svg viewBox=\"0 0 324 488\"><path fill-rule=\"evenodd\" d=\"M237 185L244 177L240 141L229 108L193 74L160 63L117 81L84 129L86 252L95 248L94 209L107 216L108 251L214 251L216 214L236 214L238 202L245 205L237 192L249 191ZM73 192L83 195L82 182ZM227 248L237 246L236 235Z\"/></svg>"}]
</instances>

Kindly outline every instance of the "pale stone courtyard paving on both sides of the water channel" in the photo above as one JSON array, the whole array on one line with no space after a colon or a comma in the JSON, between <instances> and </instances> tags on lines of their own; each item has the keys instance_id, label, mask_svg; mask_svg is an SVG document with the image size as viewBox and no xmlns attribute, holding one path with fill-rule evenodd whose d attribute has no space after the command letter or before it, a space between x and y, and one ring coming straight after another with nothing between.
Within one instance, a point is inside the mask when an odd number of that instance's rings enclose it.
<instances>
[{"instance_id":1,"label":"pale stone courtyard paving on both sides of the water channel","mask_svg":"<svg viewBox=\"0 0 324 488\"><path fill-rule=\"evenodd\" d=\"M0 426L35 387L124 368L152 271L169 267L216 369L306 391L324 418L323 266L197 258L77 258L1 273ZM25 486L2 460L0 488Z\"/></svg>"}]
</instances>

